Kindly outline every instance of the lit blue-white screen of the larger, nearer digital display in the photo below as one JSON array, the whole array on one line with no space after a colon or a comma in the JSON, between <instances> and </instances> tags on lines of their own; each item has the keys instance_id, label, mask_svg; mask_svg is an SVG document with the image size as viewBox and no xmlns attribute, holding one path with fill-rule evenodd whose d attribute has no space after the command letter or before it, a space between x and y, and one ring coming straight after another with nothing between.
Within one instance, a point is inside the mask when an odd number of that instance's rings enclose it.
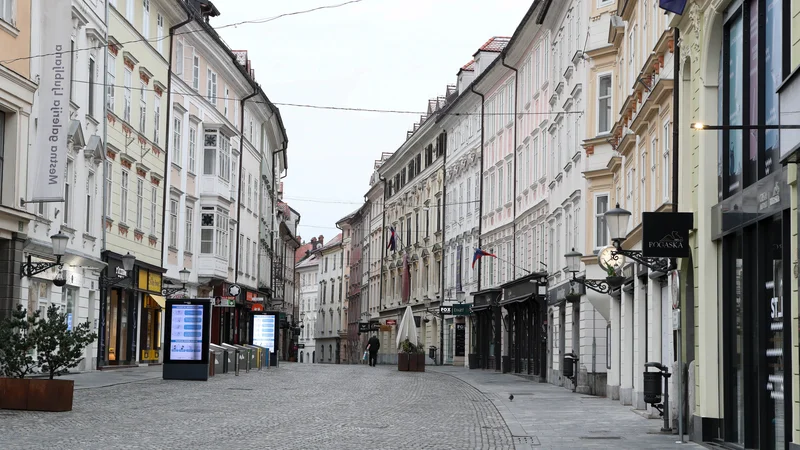
<instances>
[{"instance_id":1,"label":"lit blue-white screen of the larger, nearer digital display","mask_svg":"<svg viewBox=\"0 0 800 450\"><path fill-rule=\"evenodd\" d=\"M171 306L169 356L172 361L203 359L203 305Z\"/></svg>"}]
</instances>

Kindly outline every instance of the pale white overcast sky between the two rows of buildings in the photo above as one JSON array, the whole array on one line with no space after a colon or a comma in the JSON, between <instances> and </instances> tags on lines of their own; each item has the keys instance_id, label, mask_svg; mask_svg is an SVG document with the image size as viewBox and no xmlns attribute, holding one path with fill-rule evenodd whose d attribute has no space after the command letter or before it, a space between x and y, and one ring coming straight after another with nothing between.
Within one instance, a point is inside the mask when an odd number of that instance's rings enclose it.
<instances>
[{"instance_id":1,"label":"pale white overcast sky between the two rows of buildings","mask_svg":"<svg viewBox=\"0 0 800 450\"><path fill-rule=\"evenodd\" d=\"M345 0L215 1L215 27ZM424 111L492 36L511 36L525 0L362 0L220 30L248 50L270 100ZM280 106L289 136L284 197L304 240L332 238L363 202L375 159L394 152L419 116ZM312 199L304 201L301 199Z\"/></svg>"}]
</instances>

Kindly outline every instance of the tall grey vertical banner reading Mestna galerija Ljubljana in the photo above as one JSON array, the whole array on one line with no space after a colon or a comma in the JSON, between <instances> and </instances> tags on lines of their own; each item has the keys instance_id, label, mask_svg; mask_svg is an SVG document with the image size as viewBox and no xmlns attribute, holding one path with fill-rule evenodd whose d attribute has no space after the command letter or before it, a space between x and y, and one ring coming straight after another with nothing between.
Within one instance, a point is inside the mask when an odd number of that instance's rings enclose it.
<instances>
[{"instance_id":1,"label":"tall grey vertical banner reading Mestna galerija Ljubljana","mask_svg":"<svg viewBox=\"0 0 800 450\"><path fill-rule=\"evenodd\" d=\"M39 83L39 128L31 149L33 201L63 200L69 131L70 68L72 66L72 4L48 1L42 8L42 73Z\"/></svg>"}]
</instances>

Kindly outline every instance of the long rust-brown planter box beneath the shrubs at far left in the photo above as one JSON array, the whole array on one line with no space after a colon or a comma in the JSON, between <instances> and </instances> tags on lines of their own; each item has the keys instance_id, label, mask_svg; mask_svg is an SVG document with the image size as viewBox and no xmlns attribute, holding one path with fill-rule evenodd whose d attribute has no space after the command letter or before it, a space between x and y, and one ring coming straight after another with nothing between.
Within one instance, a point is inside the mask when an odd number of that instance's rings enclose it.
<instances>
[{"instance_id":1,"label":"long rust-brown planter box beneath the shrubs at far left","mask_svg":"<svg viewBox=\"0 0 800 450\"><path fill-rule=\"evenodd\" d=\"M30 378L0 378L0 409L72 411L75 382Z\"/></svg>"}]
</instances>

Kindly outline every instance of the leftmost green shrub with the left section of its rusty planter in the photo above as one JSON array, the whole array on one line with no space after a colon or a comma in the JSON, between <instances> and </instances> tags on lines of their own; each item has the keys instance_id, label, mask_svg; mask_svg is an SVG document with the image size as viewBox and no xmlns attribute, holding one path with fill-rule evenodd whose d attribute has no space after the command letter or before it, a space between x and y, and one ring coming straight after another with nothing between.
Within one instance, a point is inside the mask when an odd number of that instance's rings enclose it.
<instances>
[{"instance_id":1,"label":"leftmost green shrub with the left section of its rusty planter","mask_svg":"<svg viewBox=\"0 0 800 450\"><path fill-rule=\"evenodd\" d=\"M36 369L33 329L39 311L28 315L22 305L0 321L0 409L27 409L29 379Z\"/></svg>"}]
</instances>

